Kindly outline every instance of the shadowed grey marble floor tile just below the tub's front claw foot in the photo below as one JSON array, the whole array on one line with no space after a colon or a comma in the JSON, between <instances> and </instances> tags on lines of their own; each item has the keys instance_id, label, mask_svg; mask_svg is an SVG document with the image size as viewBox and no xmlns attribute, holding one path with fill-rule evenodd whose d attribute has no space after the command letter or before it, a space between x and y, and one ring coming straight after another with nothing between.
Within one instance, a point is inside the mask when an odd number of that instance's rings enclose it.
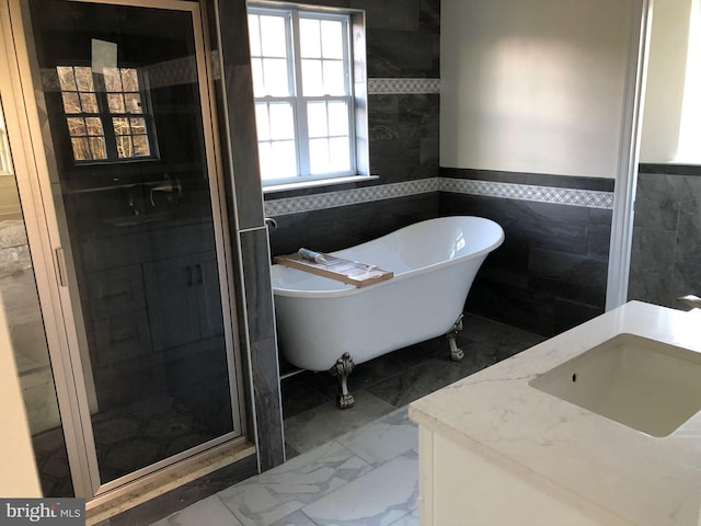
<instances>
[{"instance_id":1,"label":"shadowed grey marble floor tile just below the tub's front claw foot","mask_svg":"<svg viewBox=\"0 0 701 526\"><path fill-rule=\"evenodd\" d=\"M327 402L312 411L287 419L285 441L299 453L309 451L395 409L364 390L355 392L354 397L355 405L350 409L340 410L335 402Z\"/></svg>"}]
</instances>

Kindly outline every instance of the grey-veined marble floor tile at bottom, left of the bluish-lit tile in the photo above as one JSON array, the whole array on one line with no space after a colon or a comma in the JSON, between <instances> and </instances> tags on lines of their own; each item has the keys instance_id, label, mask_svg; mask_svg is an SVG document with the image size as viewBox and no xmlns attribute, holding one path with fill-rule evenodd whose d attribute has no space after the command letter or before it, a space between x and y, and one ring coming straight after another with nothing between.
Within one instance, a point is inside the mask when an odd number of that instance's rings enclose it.
<instances>
[{"instance_id":1,"label":"grey-veined marble floor tile at bottom, left of the bluish-lit tile","mask_svg":"<svg viewBox=\"0 0 701 526\"><path fill-rule=\"evenodd\" d=\"M331 442L218 493L243 525L272 525L372 468Z\"/></svg>"}]
</instances>

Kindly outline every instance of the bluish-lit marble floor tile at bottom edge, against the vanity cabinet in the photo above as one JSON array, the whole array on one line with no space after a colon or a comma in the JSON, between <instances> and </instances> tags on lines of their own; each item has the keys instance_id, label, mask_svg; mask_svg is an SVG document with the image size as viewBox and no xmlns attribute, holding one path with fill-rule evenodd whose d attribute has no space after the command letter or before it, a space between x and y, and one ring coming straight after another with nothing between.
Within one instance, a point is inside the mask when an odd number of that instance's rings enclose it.
<instances>
[{"instance_id":1,"label":"bluish-lit marble floor tile at bottom edge, against the vanity cabinet","mask_svg":"<svg viewBox=\"0 0 701 526\"><path fill-rule=\"evenodd\" d=\"M418 458L413 451L302 507L320 526L389 526L418 502Z\"/></svg>"}]
</instances>

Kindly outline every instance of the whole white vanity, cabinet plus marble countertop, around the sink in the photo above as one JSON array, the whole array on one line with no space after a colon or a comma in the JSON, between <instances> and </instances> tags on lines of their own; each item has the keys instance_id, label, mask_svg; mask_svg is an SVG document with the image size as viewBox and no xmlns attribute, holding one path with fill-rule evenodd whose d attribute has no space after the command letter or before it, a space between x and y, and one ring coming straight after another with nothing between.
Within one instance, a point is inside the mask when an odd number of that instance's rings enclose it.
<instances>
[{"instance_id":1,"label":"whole white vanity, cabinet plus marble countertop, around the sink","mask_svg":"<svg viewBox=\"0 0 701 526\"><path fill-rule=\"evenodd\" d=\"M531 386L621 334L698 367L699 327L701 309L631 301L412 402L422 526L701 525L701 412L652 436Z\"/></svg>"}]
</instances>

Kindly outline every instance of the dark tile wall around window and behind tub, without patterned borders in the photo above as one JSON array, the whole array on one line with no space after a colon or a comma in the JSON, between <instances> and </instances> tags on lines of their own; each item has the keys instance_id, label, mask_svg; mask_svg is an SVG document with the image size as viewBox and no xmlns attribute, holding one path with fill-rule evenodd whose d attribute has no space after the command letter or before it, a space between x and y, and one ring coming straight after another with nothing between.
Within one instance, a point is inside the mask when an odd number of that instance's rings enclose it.
<instances>
[{"instance_id":1,"label":"dark tile wall around window and behind tub, without patterned borders","mask_svg":"<svg viewBox=\"0 0 701 526\"><path fill-rule=\"evenodd\" d=\"M439 0L315 0L312 5L366 12L369 79L438 79ZM322 194L438 175L438 93L368 95L370 173L379 179L326 188L266 194L265 199ZM331 251L438 216L438 195L421 195L306 211L277 218L273 255L300 247Z\"/></svg>"}]
</instances>

